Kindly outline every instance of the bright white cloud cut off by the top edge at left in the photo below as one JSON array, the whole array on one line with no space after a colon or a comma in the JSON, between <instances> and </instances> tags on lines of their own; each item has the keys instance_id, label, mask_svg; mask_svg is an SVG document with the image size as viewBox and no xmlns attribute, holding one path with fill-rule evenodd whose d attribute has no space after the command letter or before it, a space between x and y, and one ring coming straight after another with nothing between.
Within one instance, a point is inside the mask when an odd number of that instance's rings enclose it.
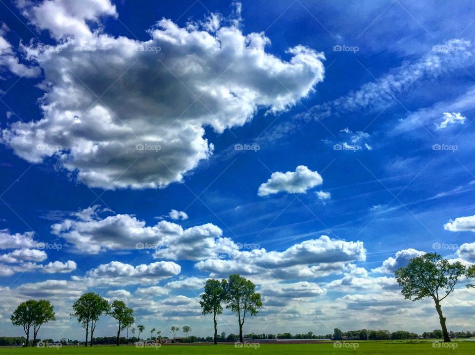
<instances>
[{"instance_id":1,"label":"bright white cloud cut off by the top edge at left","mask_svg":"<svg viewBox=\"0 0 475 355\"><path fill-rule=\"evenodd\" d=\"M17 6L33 25L48 30L51 37L66 36L90 38L93 36L88 22L99 21L99 16L117 16L115 5L109 0L47 0L34 3L17 0Z\"/></svg>"}]
</instances>

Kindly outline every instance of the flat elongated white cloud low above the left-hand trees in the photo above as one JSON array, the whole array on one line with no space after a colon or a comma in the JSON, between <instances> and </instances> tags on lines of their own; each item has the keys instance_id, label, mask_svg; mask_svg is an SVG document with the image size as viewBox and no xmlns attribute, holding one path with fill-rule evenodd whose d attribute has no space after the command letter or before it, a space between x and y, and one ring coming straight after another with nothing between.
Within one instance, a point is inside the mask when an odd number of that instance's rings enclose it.
<instances>
[{"instance_id":1,"label":"flat elongated white cloud low above the left-hand trees","mask_svg":"<svg viewBox=\"0 0 475 355\"><path fill-rule=\"evenodd\" d=\"M89 270L84 277L73 276L72 279L90 285L151 284L176 276L180 272L180 265L171 261L157 261L135 267L120 261L111 261Z\"/></svg>"}]
</instances>

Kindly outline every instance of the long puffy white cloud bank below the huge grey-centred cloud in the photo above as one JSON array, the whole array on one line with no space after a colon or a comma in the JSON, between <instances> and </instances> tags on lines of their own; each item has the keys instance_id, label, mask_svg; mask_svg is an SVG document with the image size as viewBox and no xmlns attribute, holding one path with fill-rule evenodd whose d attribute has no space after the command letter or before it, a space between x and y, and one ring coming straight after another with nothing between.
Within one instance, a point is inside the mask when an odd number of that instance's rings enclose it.
<instances>
[{"instance_id":1,"label":"long puffy white cloud bank below the huge grey-centred cloud","mask_svg":"<svg viewBox=\"0 0 475 355\"><path fill-rule=\"evenodd\" d=\"M77 252L84 254L141 249L154 251L155 258L200 260L238 250L230 238L222 237L223 231L219 227L210 223L184 230L168 221L146 226L135 216L117 214L101 218L98 212L98 206L81 210L75 214L75 219L52 225L52 233L63 237Z\"/></svg>"}]
</instances>

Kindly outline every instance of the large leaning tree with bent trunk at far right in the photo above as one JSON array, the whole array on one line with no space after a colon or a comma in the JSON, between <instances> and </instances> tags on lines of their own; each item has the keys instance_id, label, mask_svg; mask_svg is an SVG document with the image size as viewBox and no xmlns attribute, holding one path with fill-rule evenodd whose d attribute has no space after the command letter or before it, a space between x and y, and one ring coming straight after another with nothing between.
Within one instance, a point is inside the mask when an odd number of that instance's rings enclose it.
<instances>
[{"instance_id":1,"label":"large leaning tree with bent trunk at far right","mask_svg":"<svg viewBox=\"0 0 475 355\"><path fill-rule=\"evenodd\" d=\"M405 299L418 301L432 297L439 315L444 342L450 342L450 337L440 302L454 290L459 277L466 273L466 267L460 262L450 264L437 253L427 253L413 258L405 268L399 268L395 272Z\"/></svg>"}]
</instances>

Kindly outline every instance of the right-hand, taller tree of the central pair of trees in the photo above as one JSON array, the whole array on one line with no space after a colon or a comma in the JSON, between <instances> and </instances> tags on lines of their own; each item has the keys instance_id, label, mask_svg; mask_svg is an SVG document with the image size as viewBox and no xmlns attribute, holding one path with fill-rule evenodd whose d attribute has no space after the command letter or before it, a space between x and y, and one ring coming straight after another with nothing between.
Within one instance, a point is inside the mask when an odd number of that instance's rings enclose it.
<instances>
[{"instance_id":1,"label":"right-hand, taller tree of the central pair of trees","mask_svg":"<svg viewBox=\"0 0 475 355\"><path fill-rule=\"evenodd\" d=\"M239 341L242 343L242 325L246 315L256 316L262 307L261 295L256 293L256 285L238 274L229 276L229 280L222 280L225 293L226 308L238 315Z\"/></svg>"}]
</instances>

